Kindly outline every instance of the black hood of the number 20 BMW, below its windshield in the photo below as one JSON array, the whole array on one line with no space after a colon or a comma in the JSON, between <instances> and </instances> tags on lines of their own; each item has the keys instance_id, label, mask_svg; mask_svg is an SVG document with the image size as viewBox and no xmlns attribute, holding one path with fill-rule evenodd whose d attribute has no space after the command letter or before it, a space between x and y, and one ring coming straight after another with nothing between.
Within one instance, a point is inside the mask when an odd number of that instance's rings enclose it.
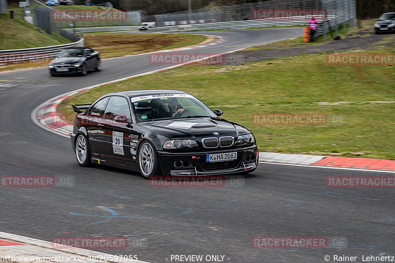
<instances>
[{"instance_id":1,"label":"black hood of the number 20 BMW, below its windshield","mask_svg":"<svg viewBox=\"0 0 395 263\"><path fill-rule=\"evenodd\" d=\"M205 137L233 136L236 138L243 132L249 132L246 128L236 123L210 117L158 120L142 122L139 125L170 139L190 137L199 141ZM214 132L218 132L219 135L214 135Z\"/></svg>"}]
</instances>

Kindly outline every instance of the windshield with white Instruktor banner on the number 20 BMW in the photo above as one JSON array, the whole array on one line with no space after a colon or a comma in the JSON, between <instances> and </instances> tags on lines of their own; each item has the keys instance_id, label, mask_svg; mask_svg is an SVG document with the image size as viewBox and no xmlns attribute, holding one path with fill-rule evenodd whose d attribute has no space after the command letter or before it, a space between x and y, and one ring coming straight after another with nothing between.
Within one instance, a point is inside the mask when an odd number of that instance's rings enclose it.
<instances>
[{"instance_id":1,"label":"windshield with white Instruktor banner on the number 20 BMW","mask_svg":"<svg viewBox=\"0 0 395 263\"><path fill-rule=\"evenodd\" d=\"M149 95L132 98L138 121L217 117L210 108L190 94Z\"/></svg>"}]
</instances>

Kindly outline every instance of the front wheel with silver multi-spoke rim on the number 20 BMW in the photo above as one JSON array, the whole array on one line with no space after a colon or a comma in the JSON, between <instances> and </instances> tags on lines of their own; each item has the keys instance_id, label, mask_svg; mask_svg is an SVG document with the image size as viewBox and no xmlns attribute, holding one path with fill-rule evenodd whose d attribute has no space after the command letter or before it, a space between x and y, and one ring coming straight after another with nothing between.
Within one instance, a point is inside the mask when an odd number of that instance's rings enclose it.
<instances>
[{"instance_id":1,"label":"front wheel with silver multi-spoke rim on the number 20 BMW","mask_svg":"<svg viewBox=\"0 0 395 263\"><path fill-rule=\"evenodd\" d=\"M140 144L137 152L137 161L140 173L145 179L160 174L158 154L152 143L146 141Z\"/></svg>"}]
</instances>

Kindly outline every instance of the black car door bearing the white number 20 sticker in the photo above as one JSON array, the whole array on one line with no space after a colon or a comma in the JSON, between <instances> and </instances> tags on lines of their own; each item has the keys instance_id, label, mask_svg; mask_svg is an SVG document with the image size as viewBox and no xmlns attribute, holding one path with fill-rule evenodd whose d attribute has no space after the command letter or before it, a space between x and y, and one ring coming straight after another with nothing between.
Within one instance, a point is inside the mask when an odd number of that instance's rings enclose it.
<instances>
[{"instance_id":1,"label":"black car door bearing the white number 20 sticker","mask_svg":"<svg viewBox=\"0 0 395 263\"><path fill-rule=\"evenodd\" d=\"M130 162L128 120L130 120L128 100L121 96L111 96L100 128L104 138L104 143L100 145L103 157L114 161Z\"/></svg>"}]
</instances>

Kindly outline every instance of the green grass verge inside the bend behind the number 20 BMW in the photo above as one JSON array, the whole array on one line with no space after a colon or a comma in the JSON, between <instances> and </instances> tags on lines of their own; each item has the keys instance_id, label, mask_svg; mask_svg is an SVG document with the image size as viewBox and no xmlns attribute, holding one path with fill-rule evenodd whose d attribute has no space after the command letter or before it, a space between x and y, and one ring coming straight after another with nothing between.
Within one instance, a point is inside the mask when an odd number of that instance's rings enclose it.
<instances>
[{"instance_id":1,"label":"green grass verge inside the bend behind the number 20 BMW","mask_svg":"<svg viewBox=\"0 0 395 263\"><path fill-rule=\"evenodd\" d=\"M394 43L369 53L393 53ZM190 65L79 93L58 111L73 114L72 103L91 103L109 92L179 89L251 129L260 151L395 159L394 67L328 65L326 54L238 66ZM324 113L328 122L261 125L253 123L255 113Z\"/></svg>"}]
</instances>

